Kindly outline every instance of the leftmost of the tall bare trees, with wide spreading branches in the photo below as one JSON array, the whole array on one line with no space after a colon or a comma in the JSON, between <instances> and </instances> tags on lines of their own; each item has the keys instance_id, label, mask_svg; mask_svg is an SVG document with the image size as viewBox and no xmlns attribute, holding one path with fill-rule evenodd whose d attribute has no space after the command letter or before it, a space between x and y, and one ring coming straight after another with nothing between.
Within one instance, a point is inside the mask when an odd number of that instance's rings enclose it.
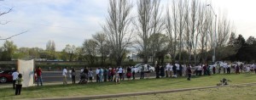
<instances>
[{"instance_id":1,"label":"leftmost of the tall bare trees, with wide spreading branches","mask_svg":"<svg viewBox=\"0 0 256 100\"><path fill-rule=\"evenodd\" d=\"M122 63L127 47L132 44L131 8L129 0L109 0L107 24L103 30L118 66Z\"/></svg>"}]
</instances>

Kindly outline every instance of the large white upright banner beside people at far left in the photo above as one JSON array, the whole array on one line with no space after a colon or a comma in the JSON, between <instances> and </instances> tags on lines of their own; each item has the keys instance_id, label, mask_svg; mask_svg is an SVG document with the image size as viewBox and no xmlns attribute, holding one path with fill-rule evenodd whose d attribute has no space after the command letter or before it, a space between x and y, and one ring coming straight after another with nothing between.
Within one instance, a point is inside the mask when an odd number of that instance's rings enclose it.
<instances>
[{"instance_id":1,"label":"large white upright banner beside people at far left","mask_svg":"<svg viewBox=\"0 0 256 100\"><path fill-rule=\"evenodd\" d=\"M18 60L18 71L22 74L22 87L33 86L34 60Z\"/></svg>"}]
</instances>

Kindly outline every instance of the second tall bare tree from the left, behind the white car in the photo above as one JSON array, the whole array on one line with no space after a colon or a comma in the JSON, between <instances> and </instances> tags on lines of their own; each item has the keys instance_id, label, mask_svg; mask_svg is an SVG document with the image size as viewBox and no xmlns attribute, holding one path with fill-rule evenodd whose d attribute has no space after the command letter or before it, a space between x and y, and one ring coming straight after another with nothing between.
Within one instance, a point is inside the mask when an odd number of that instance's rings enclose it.
<instances>
[{"instance_id":1,"label":"second tall bare tree from the left, behind the white car","mask_svg":"<svg viewBox=\"0 0 256 100\"><path fill-rule=\"evenodd\" d=\"M142 54L143 62L148 63L149 55L154 53L154 46L150 46L149 37L163 31L163 20L160 13L160 0L138 0L137 3L137 22L134 22L137 29L137 50ZM153 41L157 41L153 38Z\"/></svg>"}]
</instances>

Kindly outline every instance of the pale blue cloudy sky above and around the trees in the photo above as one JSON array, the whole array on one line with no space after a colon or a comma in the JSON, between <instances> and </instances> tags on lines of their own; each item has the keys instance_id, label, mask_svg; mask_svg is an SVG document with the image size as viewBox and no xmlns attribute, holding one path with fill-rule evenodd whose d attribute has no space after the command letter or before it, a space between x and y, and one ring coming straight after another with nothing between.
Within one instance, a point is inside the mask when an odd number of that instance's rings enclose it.
<instances>
[{"instance_id":1,"label":"pale blue cloudy sky above and around the trees","mask_svg":"<svg viewBox=\"0 0 256 100\"><path fill-rule=\"evenodd\" d=\"M166 5L163 0L161 4ZM211 2L207 0L207 2ZM134 0L133 3L136 3ZM256 37L255 0L212 0L213 10L223 9L234 24L236 35ZM135 5L135 4L134 4ZM56 50L67 44L82 46L85 39L102 31L108 15L108 0L0 0L0 38L27 31L9 39L17 47L46 47L51 40ZM0 41L3 46L4 41Z\"/></svg>"}]
</instances>

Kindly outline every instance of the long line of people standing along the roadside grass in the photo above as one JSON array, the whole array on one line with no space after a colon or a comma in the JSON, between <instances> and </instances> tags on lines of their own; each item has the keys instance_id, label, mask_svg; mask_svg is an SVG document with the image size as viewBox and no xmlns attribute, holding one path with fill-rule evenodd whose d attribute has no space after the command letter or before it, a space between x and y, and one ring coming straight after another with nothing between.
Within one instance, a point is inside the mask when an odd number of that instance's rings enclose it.
<instances>
[{"instance_id":1,"label":"long line of people standing along the roadside grass","mask_svg":"<svg viewBox=\"0 0 256 100\"><path fill-rule=\"evenodd\" d=\"M94 70L88 68L81 68L79 72L80 81L79 84L84 84L92 82L94 78L96 78L96 82L104 82L104 81L114 81L119 83L119 81L125 80L135 80L136 72L133 69L133 66L128 66L126 68L116 67L116 68L97 68ZM140 79L144 79L144 74L149 78L149 65L143 64L140 68ZM177 78L180 76L187 76L187 80L190 81L191 75L212 75L212 74L220 74L220 73L236 73L240 74L243 72L255 72L256 74L256 64L226 64L226 65L209 65L209 64L200 64L197 66L193 66L192 64L169 64L160 66L156 65L155 67L155 77L163 78L163 77L173 77ZM64 79L63 84L67 84L67 68L63 69L62 73ZM72 78L73 84L76 83L76 72L75 69L69 71L69 75Z\"/></svg>"}]
</instances>

